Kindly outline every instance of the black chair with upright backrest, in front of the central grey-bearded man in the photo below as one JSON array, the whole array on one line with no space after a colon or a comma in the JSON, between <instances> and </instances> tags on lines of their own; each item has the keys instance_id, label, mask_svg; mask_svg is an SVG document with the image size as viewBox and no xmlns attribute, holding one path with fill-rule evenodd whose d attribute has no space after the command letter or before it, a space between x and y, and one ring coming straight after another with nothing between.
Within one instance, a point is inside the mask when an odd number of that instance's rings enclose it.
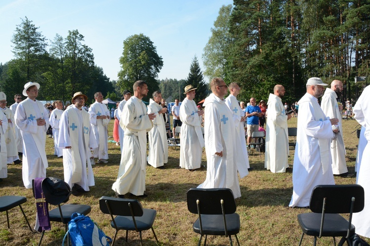
<instances>
[{"instance_id":1,"label":"black chair with upright backrest, in front of the central grey-bearded man","mask_svg":"<svg viewBox=\"0 0 370 246\"><path fill-rule=\"evenodd\" d=\"M221 235L229 238L232 246L231 235L240 230L240 218L235 213L236 204L231 189L228 188L191 188L187 191L187 209L192 214L197 214L198 219L193 224L193 231L200 234L198 246L205 235Z\"/></svg>"}]
</instances>

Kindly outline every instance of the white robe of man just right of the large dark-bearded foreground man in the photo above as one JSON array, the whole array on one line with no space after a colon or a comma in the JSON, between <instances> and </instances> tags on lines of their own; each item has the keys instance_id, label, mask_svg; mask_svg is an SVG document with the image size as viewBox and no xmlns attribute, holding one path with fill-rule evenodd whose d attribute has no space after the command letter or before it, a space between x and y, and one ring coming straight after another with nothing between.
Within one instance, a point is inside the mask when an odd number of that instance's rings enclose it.
<instances>
[{"instance_id":1,"label":"white robe of man just right of the large dark-bearded foreground man","mask_svg":"<svg viewBox=\"0 0 370 246\"><path fill-rule=\"evenodd\" d=\"M161 167L168 162L168 144L166 125L162 114L158 114L162 106L153 99L149 100L148 114L154 113L153 128L148 132L149 154L148 164L153 167Z\"/></svg>"}]
</instances>

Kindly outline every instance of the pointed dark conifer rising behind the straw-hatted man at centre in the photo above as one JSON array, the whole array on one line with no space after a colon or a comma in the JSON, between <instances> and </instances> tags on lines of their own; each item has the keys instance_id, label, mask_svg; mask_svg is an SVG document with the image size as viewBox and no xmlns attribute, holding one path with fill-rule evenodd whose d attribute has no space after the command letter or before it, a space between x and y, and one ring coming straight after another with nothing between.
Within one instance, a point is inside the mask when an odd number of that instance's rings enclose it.
<instances>
[{"instance_id":1,"label":"pointed dark conifer rising behind the straw-hatted man at centre","mask_svg":"<svg viewBox=\"0 0 370 246\"><path fill-rule=\"evenodd\" d=\"M196 56L194 56L190 64L190 72L186 78L186 82L187 85L192 85L194 88L197 88L194 98L195 102L203 100L209 94L210 90L208 84L204 83L203 74Z\"/></svg>"}]
</instances>

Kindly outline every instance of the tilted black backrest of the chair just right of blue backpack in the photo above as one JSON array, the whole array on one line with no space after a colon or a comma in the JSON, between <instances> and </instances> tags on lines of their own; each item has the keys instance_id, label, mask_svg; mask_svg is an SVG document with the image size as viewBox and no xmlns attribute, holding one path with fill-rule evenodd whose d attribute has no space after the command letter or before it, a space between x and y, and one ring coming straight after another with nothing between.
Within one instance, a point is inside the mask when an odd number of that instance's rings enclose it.
<instances>
[{"instance_id":1,"label":"tilted black backrest of the chair just right of blue backpack","mask_svg":"<svg viewBox=\"0 0 370 246\"><path fill-rule=\"evenodd\" d=\"M132 216L129 204L131 205L133 216L143 216L143 207L136 199L116 198L109 196L102 196L99 199L100 210L104 214L108 215Z\"/></svg>"}]
</instances>

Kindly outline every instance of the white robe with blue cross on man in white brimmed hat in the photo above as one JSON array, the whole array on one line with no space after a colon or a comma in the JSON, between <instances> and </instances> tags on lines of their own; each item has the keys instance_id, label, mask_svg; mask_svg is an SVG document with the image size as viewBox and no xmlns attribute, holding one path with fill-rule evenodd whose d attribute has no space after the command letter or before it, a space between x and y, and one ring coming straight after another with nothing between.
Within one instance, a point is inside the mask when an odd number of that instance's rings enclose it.
<instances>
[{"instance_id":1,"label":"white robe with blue cross on man in white brimmed hat","mask_svg":"<svg viewBox=\"0 0 370 246\"><path fill-rule=\"evenodd\" d=\"M32 180L46 178L48 167L45 141L49 127L49 111L38 100L27 98L19 103L15 111L15 124L21 129L23 138L22 176L26 188L32 188ZM37 119L45 125L37 125Z\"/></svg>"}]
</instances>

